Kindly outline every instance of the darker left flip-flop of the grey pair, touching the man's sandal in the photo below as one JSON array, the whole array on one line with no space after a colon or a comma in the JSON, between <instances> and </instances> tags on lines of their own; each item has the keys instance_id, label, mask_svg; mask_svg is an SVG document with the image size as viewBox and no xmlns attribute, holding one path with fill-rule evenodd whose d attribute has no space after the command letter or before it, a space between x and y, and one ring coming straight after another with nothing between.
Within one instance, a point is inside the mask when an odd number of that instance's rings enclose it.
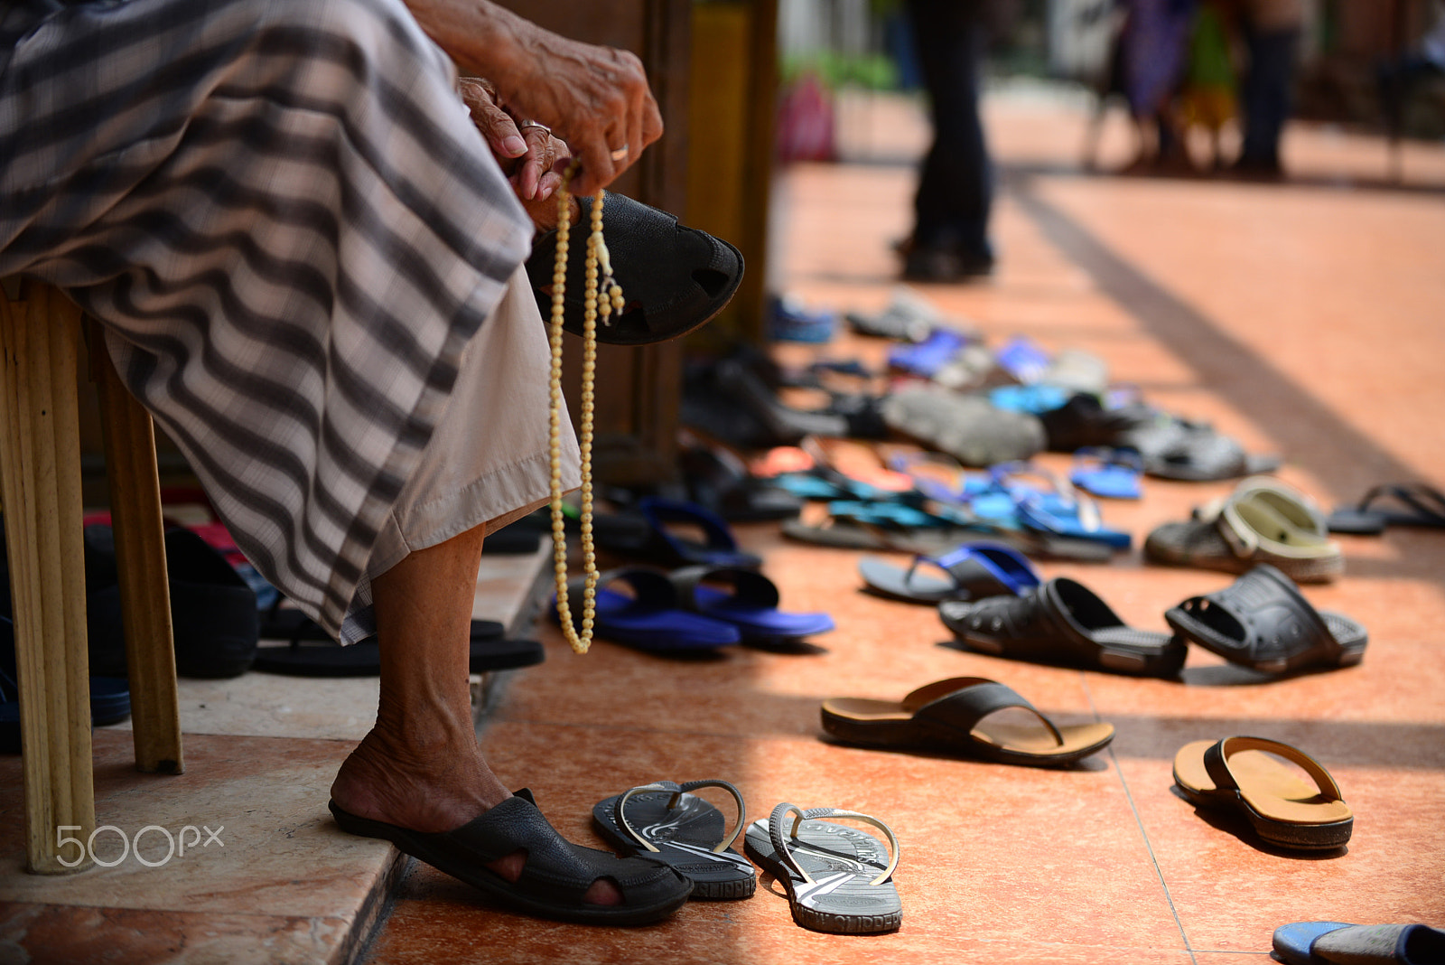
<instances>
[{"instance_id":1,"label":"darker left flip-flop of the grey pair, touching the man's sandal","mask_svg":"<svg viewBox=\"0 0 1445 965\"><path fill-rule=\"evenodd\" d=\"M733 834L727 834L721 810L689 793L702 787L733 795ZM757 890L757 871L733 849L746 823L743 795L725 780L659 780L592 806L592 828L603 841L623 854L670 865L692 881L694 899L715 901L747 899Z\"/></svg>"}]
</instances>

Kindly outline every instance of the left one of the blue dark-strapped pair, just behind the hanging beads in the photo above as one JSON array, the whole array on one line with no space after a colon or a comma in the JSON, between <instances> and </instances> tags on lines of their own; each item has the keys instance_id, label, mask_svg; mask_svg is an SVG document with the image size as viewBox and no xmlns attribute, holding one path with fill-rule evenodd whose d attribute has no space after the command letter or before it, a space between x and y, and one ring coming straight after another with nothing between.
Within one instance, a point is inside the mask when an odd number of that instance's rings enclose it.
<instances>
[{"instance_id":1,"label":"left one of the blue dark-strapped pair, just behind the hanging beads","mask_svg":"<svg viewBox=\"0 0 1445 965\"><path fill-rule=\"evenodd\" d=\"M568 584L568 604L572 621L582 621L582 588L585 578ZM621 584L631 594L610 587ZM551 617L558 621L556 602ZM730 623L682 610L678 592L668 575L643 566L623 566L598 574L597 613L592 627L598 637L637 650L712 650L743 639Z\"/></svg>"}]
</instances>

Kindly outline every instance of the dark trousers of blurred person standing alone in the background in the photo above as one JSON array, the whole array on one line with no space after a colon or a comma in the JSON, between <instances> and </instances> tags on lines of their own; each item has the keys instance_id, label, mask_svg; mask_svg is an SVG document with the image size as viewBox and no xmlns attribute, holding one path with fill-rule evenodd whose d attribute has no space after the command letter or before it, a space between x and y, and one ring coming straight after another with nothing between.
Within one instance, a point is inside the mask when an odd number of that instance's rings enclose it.
<instances>
[{"instance_id":1,"label":"dark trousers of blurred person standing alone in the background","mask_svg":"<svg viewBox=\"0 0 1445 965\"><path fill-rule=\"evenodd\" d=\"M978 120L985 20L980 0L909 0L919 68L933 111L933 146L913 201L918 247L987 254L993 170Z\"/></svg>"}]
</instances>

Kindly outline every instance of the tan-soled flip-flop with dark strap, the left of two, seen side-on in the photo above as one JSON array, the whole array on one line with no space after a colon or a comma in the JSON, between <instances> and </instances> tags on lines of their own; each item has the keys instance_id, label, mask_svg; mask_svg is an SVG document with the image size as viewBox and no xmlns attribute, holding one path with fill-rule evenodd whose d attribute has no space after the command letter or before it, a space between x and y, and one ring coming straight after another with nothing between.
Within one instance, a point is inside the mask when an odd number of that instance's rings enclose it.
<instances>
[{"instance_id":1,"label":"tan-soled flip-flop with dark strap, the left of two, seen side-on","mask_svg":"<svg viewBox=\"0 0 1445 965\"><path fill-rule=\"evenodd\" d=\"M1039 719L1020 725L993 718L1007 708ZM850 744L961 751L1033 767L1069 764L1114 740L1113 724L1055 727L1012 688L984 678L938 680L902 701L831 698L822 702L822 730Z\"/></svg>"}]
</instances>

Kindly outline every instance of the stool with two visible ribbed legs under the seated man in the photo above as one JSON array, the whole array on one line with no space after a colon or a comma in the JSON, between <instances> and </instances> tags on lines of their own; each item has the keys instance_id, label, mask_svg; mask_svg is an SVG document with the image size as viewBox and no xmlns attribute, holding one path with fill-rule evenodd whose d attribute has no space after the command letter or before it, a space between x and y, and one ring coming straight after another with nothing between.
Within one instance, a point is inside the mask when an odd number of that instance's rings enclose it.
<instances>
[{"instance_id":1,"label":"stool with two visible ribbed legs under the seated man","mask_svg":"<svg viewBox=\"0 0 1445 965\"><path fill-rule=\"evenodd\" d=\"M95 829L77 365L81 311L33 279L0 279L0 506L4 510L25 748L26 867L90 867ZM179 774L171 600L155 429L87 319L116 532L136 767ZM58 831L68 828L68 831ZM75 831L78 828L78 831ZM79 860L77 860L79 858Z\"/></svg>"}]
</instances>

